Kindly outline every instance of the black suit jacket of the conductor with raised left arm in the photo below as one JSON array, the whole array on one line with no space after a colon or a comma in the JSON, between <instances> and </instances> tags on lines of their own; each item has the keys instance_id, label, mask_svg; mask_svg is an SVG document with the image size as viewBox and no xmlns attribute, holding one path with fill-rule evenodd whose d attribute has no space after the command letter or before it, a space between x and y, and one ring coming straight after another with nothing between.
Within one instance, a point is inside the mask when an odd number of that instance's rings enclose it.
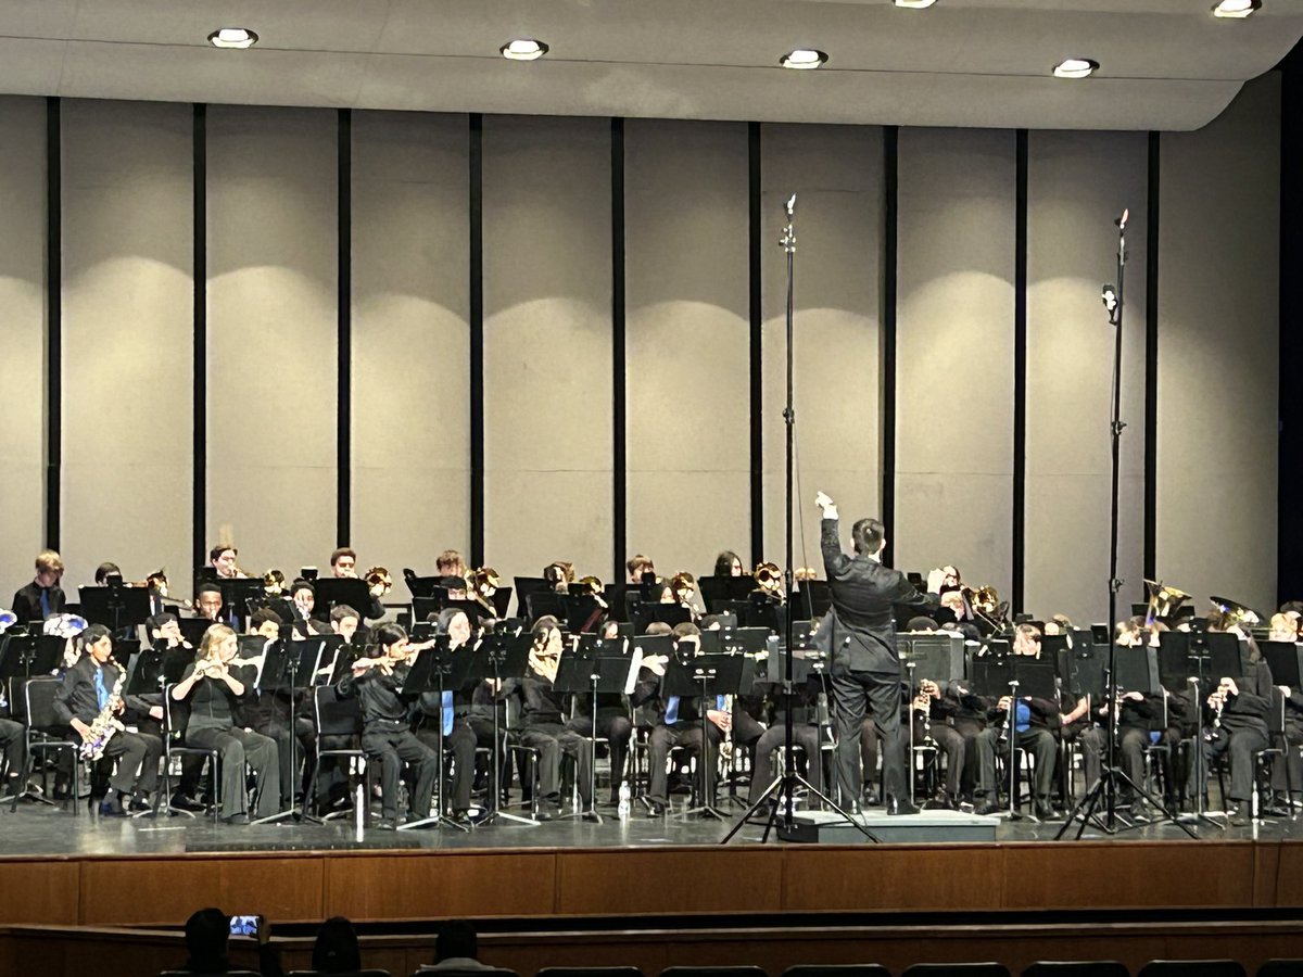
<instances>
[{"instance_id":1,"label":"black suit jacket of the conductor with raised left arm","mask_svg":"<svg viewBox=\"0 0 1303 977\"><path fill-rule=\"evenodd\" d=\"M833 673L874 672L896 676L893 607L925 607L937 598L921 594L900 571L883 567L864 554L847 556L838 537L838 520L825 518L821 530L823 569L833 591L830 628Z\"/></svg>"}]
</instances>

